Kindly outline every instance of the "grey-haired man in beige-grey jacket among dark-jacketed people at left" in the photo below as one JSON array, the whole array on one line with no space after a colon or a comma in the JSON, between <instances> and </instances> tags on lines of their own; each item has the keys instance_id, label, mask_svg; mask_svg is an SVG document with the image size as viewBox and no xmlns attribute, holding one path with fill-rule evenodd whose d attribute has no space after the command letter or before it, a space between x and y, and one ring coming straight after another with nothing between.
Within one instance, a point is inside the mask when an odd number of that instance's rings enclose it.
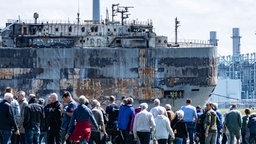
<instances>
[{"instance_id":1,"label":"grey-haired man in beige-grey jacket among dark-jacketed people at left","mask_svg":"<svg viewBox=\"0 0 256 144\"><path fill-rule=\"evenodd\" d=\"M20 144L25 144L26 143L26 136L25 136L25 129L23 126L23 121L24 121L24 111L25 107L28 106L28 102L26 100L26 93L24 91L19 91L18 92L18 102L20 106L20 122L19 122L19 130L20 130Z\"/></svg>"}]
</instances>

